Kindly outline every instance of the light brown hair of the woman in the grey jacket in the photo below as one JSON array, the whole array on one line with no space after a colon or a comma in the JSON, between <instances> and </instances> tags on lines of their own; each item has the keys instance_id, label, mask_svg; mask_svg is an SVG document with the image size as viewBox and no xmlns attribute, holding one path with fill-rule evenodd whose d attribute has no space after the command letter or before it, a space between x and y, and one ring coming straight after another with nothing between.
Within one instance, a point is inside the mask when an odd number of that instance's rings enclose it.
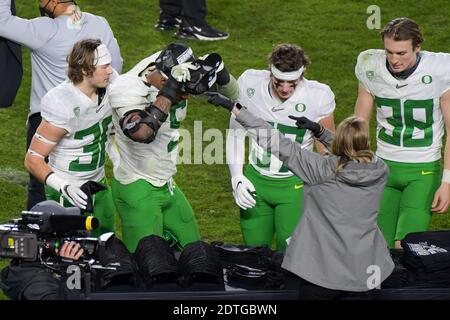
<instances>
[{"instance_id":1,"label":"light brown hair of the woman in the grey jacket","mask_svg":"<svg viewBox=\"0 0 450 320\"><path fill-rule=\"evenodd\" d=\"M344 119L336 129L331 151L339 157L336 173L348 162L371 162L369 126L363 118L351 116Z\"/></svg>"}]
</instances>

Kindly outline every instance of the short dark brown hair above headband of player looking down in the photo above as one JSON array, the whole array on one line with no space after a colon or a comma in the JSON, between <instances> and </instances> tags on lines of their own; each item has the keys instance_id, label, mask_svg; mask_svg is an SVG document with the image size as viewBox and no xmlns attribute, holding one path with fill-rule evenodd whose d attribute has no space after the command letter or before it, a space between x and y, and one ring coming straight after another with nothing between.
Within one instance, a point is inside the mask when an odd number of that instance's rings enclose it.
<instances>
[{"instance_id":1,"label":"short dark brown hair above headband of player looking down","mask_svg":"<svg viewBox=\"0 0 450 320\"><path fill-rule=\"evenodd\" d=\"M310 64L305 51L294 44L279 44L269 55L269 63L278 70L290 72Z\"/></svg>"}]
</instances>

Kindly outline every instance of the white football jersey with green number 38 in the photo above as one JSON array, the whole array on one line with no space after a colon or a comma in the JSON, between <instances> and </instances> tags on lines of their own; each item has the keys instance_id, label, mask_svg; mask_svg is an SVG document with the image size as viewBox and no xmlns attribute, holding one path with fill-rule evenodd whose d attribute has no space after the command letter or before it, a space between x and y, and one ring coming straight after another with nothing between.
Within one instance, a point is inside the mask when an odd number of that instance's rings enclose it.
<instances>
[{"instance_id":1,"label":"white football jersey with green number 38","mask_svg":"<svg viewBox=\"0 0 450 320\"><path fill-rule=\"evenodd\" d=\"M361 52L355 74L374 96L377 155L397 162L441 158L444 120L440 96L450 89L450 54L421 51L417 69L405 80L386 67L384 50Z\"/></svg>"}]
</instances>

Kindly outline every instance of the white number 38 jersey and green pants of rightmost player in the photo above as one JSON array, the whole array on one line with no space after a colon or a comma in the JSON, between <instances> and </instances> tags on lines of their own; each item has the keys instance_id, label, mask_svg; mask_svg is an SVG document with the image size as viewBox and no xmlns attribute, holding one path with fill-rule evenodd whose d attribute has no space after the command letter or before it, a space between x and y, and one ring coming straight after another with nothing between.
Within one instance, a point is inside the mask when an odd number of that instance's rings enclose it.
<instances>
[{"instance_id":1,"label":"white number 38 jersey and green pants of rightmost player","mask_svg":"<svg viewBox=\"0 0 450 320\"><path fill-rule=\"evenodd\" d=\"M377 155L390 174L378 223L389 244L425 231L440 185L444 119L439 99L450 89L450 55L422 51L417 69L405 80L386 67L384 50L359 54L355 74L374 97Z\"/></svg>"}]
</instances>

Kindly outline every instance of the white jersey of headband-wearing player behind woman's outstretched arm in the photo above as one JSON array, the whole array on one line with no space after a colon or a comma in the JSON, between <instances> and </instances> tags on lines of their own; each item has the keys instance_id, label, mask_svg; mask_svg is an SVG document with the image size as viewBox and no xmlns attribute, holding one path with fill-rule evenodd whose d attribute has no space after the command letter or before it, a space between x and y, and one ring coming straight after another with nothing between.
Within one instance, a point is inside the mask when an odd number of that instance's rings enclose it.
<instances>
[{"instance_id":1,"label":"white jersey of headband-wearing player behind woman's outstretched arm","mask_svg":"<svg viewBox=\"0 0 450 320\"><path fill-rule=\"evenodd\" d=\"M239 102L243 106L308 150L313 149L311 132L298 129L295 120L288 116L305 116L317 122L331 115L336 107L334 94L329 86L306 78L303 78L293 95L284 102L271 96L270 72L267 70L245 71L239 77L238 85ZM249 162L265 176L279 178L293 175L277 157L264 151L256 143L251 144Z\"/></svg>"}]
</instances>

